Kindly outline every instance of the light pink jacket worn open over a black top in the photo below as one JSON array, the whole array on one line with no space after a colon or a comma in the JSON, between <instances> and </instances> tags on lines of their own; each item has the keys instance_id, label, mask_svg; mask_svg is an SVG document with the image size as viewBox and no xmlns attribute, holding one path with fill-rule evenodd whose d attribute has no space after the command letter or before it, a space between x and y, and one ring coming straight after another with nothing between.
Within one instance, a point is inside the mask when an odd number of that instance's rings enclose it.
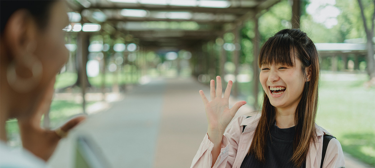
<instances>
[{"instance_id":1,"label":"light pink jacket worn open over a black top","mask_svg":"<svg viewBox=\"0 0 375 168\"><path fill-rule=\"evenodd\" d=\"M235 118L226 128L221 144L219 157L213 168L240 168L243 159L249 151L255 129L260 118L260 114L246 118L243 115ZM242 132L243 126L246 125ZM315 146L310 145L310 150L306 158L306 168L320 168L323 150L323 135L329 134L327 130L315 124L317 129L318 142ZM313 142L311 142L313 143ZM213 143L208 139L208 135L203 138L190 168L211 168ZM323 168L345 167L344 154L340 142L332 138L328 144Z\"/></svg>"}]
</instances>

